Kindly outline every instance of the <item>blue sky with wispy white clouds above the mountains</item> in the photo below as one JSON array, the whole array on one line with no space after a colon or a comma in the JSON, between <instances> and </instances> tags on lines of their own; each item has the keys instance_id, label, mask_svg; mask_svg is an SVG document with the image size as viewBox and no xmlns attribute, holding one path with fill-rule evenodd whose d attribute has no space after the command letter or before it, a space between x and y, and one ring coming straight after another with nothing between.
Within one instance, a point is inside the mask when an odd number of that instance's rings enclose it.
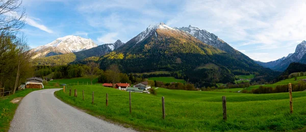
<instances>
[{"instance_id":1,"label":"blue sky with wispy white clouds above the mountains","mask_svg":"<svg viewBox=\"0 0 306 132\"><path fill-rule=\"evenodd\" d=\"M23 0L32 48L76 35L96 44L127 42L148 25L197 26L254 60L271 61L306 40L306 1Z\"/></svg>"}]
</instances>

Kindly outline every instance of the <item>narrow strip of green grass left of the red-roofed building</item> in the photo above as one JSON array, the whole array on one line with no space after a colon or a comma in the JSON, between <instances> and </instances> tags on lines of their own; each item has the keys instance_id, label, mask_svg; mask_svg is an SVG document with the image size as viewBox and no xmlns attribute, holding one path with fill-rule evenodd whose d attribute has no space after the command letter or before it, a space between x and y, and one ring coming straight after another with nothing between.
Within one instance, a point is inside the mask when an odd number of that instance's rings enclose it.
<instances>
[{"instance_id":1,"label":"narrow strip of green grass left of the red-roofed building","mask_svg":"<svg viewBox=\"0 0 306 132\"><path fill-rule=\"evenodd\" d=\"M55 79L55 80L52 80L52 81L49 81L49 85L53 86L55 83L60 83L60 84L71 84L73 85L73 83L75 83L75 85L78 85L78 81L79 81L79 85L83 84L84 82L84 85L87 84L90 84L90 79L89 78L71 78L71 79ZM98 78L94 79L92 81L93 84L97 83L98 82Z\"/></svg>"}]
</instances>

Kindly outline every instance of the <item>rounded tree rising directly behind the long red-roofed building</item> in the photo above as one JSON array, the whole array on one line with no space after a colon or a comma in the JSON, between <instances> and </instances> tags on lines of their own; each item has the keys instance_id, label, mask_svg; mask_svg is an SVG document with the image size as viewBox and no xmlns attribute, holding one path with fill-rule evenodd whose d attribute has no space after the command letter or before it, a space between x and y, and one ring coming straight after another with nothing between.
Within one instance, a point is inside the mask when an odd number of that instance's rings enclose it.
<instances>
[{"instance_id":1,"label":"rounded tree rising directly behind the long red-roofed building","mask_svg":"<svg viewBox=\"0 0 306 132\"><path fill-rule=\"evenodd\" d=\"M113 87L115 87L115 83L120 81L120 70L118 65L112 64L106 70L107 80L113 83Z\"/></svg>"}]
</instances>

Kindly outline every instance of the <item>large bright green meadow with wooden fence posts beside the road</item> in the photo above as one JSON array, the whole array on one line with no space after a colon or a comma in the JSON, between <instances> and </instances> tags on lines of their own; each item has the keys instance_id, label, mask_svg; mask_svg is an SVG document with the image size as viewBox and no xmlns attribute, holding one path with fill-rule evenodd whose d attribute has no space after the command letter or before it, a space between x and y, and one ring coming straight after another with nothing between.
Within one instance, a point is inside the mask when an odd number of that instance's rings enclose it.
<instances>
[{"instance_id":1,"label":"large bright green meadow with wooden fence posts beside the road","mask_svg":"<svg viewBox=\"0 0 306 132\"><path fill-rule=\"evenodd\" d=\"M78 97L62 90L55 94L64 102L90 114L132 125L140 130L158 131L291 131L306 125L306 92L293 92L294 113L289 94L243 94L214 91L158 89L157 95L132 93L103 86L80 85ZM82 100L85 91L85 101ZM94 91L94 104L91 104ZM105 106L106 93L109 106ZM227 121L222 120L222 96L227 100ZM162 119L161 97L165 96L166 119Z\"/></svg>"}]
</instances>

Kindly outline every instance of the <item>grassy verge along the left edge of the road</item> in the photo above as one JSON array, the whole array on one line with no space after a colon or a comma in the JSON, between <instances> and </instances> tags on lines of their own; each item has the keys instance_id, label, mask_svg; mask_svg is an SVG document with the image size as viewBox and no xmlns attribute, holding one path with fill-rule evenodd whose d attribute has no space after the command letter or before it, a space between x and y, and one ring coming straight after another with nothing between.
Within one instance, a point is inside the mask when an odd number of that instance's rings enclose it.
<instances>
[{"instance_id":1,"label":"grassy verge along the left edge of the road","mask_svg":"<svg viewBox=\"0 0 306 132\"><path fill-rule=\"evenodd\" d=\"M12 121L15 111L18 107L17 104L11 103L14 98L24 97L28 93L39 89L25 89L16 91L15 94L0 97L0 131L8 131L10 128L10 122Z\"/></svg>"}]
</instances>

